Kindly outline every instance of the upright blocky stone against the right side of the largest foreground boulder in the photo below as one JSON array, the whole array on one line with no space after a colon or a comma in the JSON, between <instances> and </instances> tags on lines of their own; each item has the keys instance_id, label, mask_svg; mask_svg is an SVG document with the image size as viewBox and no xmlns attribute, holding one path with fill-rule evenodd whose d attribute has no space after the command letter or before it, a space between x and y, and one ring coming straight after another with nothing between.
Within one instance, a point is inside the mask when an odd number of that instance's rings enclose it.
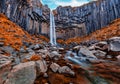
<instances>
[{"instance_id":1,"label":"upright blocky stone against the right side of the largest foreground boulder","mask_svg":"<svg viewBox=\"0 0 120 84\"><path fill-rule=\"evenodd\" d=\"M45 73L48 70L45 60L36 61L36 67L37 67L37 75L40 75L40 73Z\"/></svg>"}]
</instances>

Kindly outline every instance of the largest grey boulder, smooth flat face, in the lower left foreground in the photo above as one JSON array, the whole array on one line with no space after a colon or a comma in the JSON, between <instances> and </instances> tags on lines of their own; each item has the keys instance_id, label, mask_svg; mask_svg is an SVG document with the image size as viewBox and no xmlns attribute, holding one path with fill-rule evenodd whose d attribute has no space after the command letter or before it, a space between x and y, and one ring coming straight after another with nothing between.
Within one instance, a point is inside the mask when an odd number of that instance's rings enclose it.
<instances>
[{"instance_id":1,"label":"largest grey boulder, smooth flat face, in the lower left foreground","mask_svg":"<svg viewBox=\"0 0 120 84\"><path fill-rule=\"evenodd\" d=\"M35 62L26 62L14 66L4 84L34 84L35 79Z\"/></svg>"}]
</instances>

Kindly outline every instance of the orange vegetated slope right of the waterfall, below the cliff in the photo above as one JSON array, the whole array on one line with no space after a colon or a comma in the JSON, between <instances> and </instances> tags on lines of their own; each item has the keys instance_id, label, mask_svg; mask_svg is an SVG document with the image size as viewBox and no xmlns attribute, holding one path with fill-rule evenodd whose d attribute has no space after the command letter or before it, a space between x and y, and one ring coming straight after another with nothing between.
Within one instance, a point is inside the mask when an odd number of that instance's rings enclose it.
<instances>
[{"instance_id":1,"label":"orange vegetated slope right of the waterfall, below the cliff","mask_svg":"<svg viewBox=\"0 0 120 84\"><path fill-rule=\"evenodd\" d=\"M66 40L65 43L66 44L69 44L72 42L80 43L80 42L88 41L88 40L101 41L101 40L106 40L108 38L115 37L115 36L120 36L120 19L114 20L108 26L95 31L88 36L70 38Z\"/></svg>"}]
</instances>

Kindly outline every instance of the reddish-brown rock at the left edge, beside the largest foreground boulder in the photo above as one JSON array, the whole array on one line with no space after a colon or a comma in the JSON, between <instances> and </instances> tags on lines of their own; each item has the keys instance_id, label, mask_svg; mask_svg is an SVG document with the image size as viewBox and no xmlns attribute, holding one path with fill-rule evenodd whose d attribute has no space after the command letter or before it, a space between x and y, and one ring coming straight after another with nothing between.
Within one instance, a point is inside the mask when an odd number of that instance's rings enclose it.
<instances>
[{"instance_id":1,"label":"reddish-brown rock at the left edge, beside the largest foreground boulder","mask_svg":"<svg viewBox=\"0 0 120 84\"><path fill-rule=\"evenodd\" d=\"M0 84L4 84L7 76L12 68L12 63L9 58L0 55Z\"/></svg>"}]
</instances>

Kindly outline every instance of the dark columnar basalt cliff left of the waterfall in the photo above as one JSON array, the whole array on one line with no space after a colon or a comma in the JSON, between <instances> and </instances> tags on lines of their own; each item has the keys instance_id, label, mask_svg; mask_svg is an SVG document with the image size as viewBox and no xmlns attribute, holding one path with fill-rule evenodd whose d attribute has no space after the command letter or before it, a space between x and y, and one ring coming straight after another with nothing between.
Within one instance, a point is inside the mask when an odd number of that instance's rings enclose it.
<instances>
[{"instance_id":1,"label":"dark columnar basalt cliff left of the waterfall","mask_svg":"<svg viewBox=\"0 0 120 84\"><path fill-rule=\"evenodd\" d=\"M42 23L49 20L49 8L40 0L0 0L0 13L31 34L40 34Z\"/></svg>"}]
</instances>

